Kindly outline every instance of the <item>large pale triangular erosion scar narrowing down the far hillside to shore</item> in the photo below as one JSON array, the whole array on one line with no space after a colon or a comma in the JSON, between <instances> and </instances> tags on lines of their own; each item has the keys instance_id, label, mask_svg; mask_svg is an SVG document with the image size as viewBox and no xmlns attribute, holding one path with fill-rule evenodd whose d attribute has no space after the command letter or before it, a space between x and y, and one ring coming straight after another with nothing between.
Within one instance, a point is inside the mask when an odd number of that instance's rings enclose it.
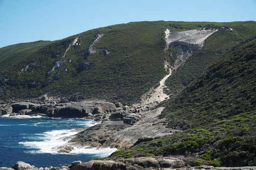
<instances>
[{"instance_id":1,"label":"large pale triangular erosion scar narrowing down the far hillside to shore","mask_svg":"<svg viewBox=\"0 0 256 170\"><path fill-rule=\"evenodd\" d=\"M176 60L174 63L170 63L165 59L165 71L168 73L163 79L159 81L157 87L152 87L147 93L143 94L141 101L133 104L134 107L138 105L151 105L156 106L160 102L169 99L169 95L165 93L165 89L168 87L165 85L165 80L172 75L172 73L182 66L185 61L192 56L193 52L200 50L207 37L215 33L218 30L215 29L201 29L201 30L189 30L182 32L171 33L170 29L165 30L165 51L170 47L175 47L180 51L176 54Z\"/></svg>"}]
</instances>

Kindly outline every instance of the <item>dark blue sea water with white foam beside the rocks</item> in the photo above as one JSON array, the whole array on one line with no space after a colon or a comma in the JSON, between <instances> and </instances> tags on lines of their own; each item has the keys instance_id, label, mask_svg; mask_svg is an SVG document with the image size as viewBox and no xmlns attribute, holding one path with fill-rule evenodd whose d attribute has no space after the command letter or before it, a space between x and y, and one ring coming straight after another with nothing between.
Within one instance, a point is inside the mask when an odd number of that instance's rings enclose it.
<instances>
[{"instance_id":1,"label":"dark blue sea water with white foam beside the rocks","mask_svg":"<svg viewBox=\"0 0 256 170\"><path fill-rule=\"evenodd\" d=\"M64 166L72 161L89 161L114 150L74 147L71 153L57 153L56 147L67 144L76 134L72 128L94 125L84 119L60 119L7 115L0 116L0 167L11 167L24 161L36 167Z\"/></svg>"}]
</instances>

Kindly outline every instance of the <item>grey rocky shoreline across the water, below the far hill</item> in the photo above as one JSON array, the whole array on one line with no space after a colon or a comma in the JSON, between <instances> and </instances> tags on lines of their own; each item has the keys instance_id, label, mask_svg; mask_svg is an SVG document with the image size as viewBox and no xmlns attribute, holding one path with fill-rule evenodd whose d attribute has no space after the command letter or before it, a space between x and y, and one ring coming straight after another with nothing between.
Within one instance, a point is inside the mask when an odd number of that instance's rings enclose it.
<instances>
[{"instance_id":1,"label":"grey rocky shoreline across the water, below the far hill","mask_svg":"<svg viewBox=\"0 0 256 170\"><path fill-rule=\"evenodd\" d=\"M86 101L69 103L37 104L18 102L0 105L0 115L29 115L61 118L82 118L98 121L99 124L82 130L60 152L70 153L73 145L86 148L127 149L134 144L154 140L179 132L166 128L165 119L158 119L164 107L149 105L129 108L121 103ZM68 148L68 149L66 149Z\"/></svg>"}]
</instances>

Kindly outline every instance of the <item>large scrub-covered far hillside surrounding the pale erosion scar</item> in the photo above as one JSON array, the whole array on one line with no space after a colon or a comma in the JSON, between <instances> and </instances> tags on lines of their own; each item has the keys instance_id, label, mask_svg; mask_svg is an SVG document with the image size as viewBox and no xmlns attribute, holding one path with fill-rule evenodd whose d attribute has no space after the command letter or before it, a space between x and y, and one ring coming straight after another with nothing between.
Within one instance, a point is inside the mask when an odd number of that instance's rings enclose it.
<instances>
[{"instance_id":1,"label":"large scrub-covered far hillside surrounding the pale erosion scar","mask_svg":"<svg viewBox=\"0 0 256 170\"><path fill-rule=\"evenodd\" d=\"M89 30L40 48L35 45L35 51L22 53L2 69L0 98L24 100L48 94L69 101L101 99L130 105L168 74L165 62L172 66L176 59L174 47L165 50L166 29L218 30L166 80L166 93L176 95L232 46L255 35L255 25L254 21L133 22Z\"/></svg>"}]
</instances>

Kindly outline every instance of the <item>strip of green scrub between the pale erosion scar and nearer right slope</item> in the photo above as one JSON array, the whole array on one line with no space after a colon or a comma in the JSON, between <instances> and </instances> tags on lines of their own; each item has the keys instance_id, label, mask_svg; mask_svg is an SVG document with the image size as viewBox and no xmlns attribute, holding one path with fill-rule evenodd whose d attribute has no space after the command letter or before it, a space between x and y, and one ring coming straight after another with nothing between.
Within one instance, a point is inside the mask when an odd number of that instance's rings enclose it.
<instances>
[{"instance_id":1,"label":"strip of green scrub between the pale erosion scar and nearer right slope","mask_svg":"<svg viewBox=\"0 0 256 170\"><path fill-rule=\"evenodd\" d=\"M225 28L221 28L221 27ZM231 23L209 23L209 27L218 28L219 31L210 35L203 48L196 51L186 60L183 67L178 68L166 81L165 85L169 88L169 93L173 96L180 93L197 76L205 71L213 62L217 61L227 51L239 42L256 35L255 22L231 22ZM229 30L232 28L232 31ZM173 30L174 31L174 30ZM177 50L170 49L172 53ZM170 51L168 50L168 51ZM172 55L170 61L175 61Z\"/></svg>"}]
</instances>

